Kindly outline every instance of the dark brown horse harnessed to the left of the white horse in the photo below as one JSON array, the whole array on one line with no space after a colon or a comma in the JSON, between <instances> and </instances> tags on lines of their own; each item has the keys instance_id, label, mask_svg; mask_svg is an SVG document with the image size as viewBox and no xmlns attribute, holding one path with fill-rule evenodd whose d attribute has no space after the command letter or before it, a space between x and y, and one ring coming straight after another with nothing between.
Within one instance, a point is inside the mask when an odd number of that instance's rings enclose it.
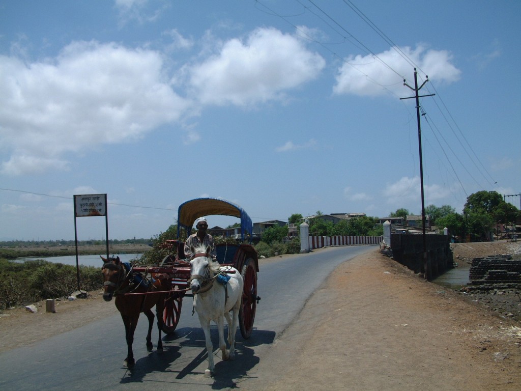
<instances>
[{"instance_id":1,"label":"dark brown horse harnessed to the left of the white horse","mask_svg":"<svg viewBox=\"0 0 521 391\"><path fill-rule=\"evenodd\" d=\"M161 326L163 324L163 310L165 298L170 285L166 280L155 279L154 283L147 282L141 275L132 272L125 264L116 258L103 258L103 299L112 300L115 296L116 308L121 314L125 324L125 338L127 340L127 358L123 365L132 368L135 364L132 343L134 331L138 325L139 314L143 312L148 318L148 333L146 335L146 349L152 351L152 325L154 313L152 307L156 306L157 328L159 339L157 340L157 352L163 352L163 341L161 339ZM135 295L142 294L142 295Z\"/></svg>"}]
</instances>

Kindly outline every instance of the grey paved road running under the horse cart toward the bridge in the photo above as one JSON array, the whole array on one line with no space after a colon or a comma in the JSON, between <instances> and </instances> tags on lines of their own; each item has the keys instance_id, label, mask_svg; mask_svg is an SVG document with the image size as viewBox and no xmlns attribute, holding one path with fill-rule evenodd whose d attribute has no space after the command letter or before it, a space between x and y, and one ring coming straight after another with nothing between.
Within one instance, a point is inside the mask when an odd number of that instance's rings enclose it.
<instances>
[{"instance_id":1,"label":"grey paved road running under the horse cart toward the bridge","mask_svg":"<svg viewBox=\"0 0 521 391\"><path fill-rule=\"evenodd\" d=\"M119 315L109 316L31 347L0 354L2 390L200 390L247 385L262 366L263 353L270 349L304 307L306 300L343 261L374 249L371 246L336 247L309 254L283 258L261 266L255 330L249 340L238 332L237 360L220 361L216 357L216 375L204 378L206 350L204 334L197 316L192 316L190 298L183 309L176 333L166 336L165 352L147 352L145 317L134 337L132 371L122 366L126 356L124 330ZM152 340L157 339L154 329ZM214 349L217 329L212 328Z\"/></svg>"}]
</instances>

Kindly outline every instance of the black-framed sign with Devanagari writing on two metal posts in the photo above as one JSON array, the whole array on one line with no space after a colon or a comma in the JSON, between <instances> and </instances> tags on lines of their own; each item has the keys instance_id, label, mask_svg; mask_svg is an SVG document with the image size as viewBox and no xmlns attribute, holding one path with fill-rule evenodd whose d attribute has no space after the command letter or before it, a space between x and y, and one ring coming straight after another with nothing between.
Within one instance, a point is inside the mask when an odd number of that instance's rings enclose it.
<instances>
[{"instance_id":1,"label":"black-framed sign with Devanagari writing on two metal posts","mask_svg":"<svg viewBox=\"0 0 521 391\"><path fill-rule=\"evenodd\" d=\"M78 230L76 226L77 217L105 216L105 238L108 258L108 213L107 194L83 194L74 196L74 237L76 241L76 276L78 290L80 289L80 264L78 260Z\"/></svg>"}]
</instances>

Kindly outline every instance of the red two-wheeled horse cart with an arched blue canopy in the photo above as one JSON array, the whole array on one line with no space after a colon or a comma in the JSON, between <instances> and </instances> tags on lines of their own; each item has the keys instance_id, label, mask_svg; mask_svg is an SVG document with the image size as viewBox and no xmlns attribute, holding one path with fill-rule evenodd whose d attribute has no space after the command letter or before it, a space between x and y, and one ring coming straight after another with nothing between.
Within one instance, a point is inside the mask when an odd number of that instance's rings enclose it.
<instances>
[{"instance_id":1,"label":"red two-wheeled horse cart with an arched blue canopy","mask_svg":"<svg viewBox=\"0 0 521 391\"><path fill-rule=\"evenodd\" d=\"M184 202L179 206L177 219L177 240L167 240L163 246L173 253L166 256L158 266L134 266L133 271L143 275L150 274L156 279L166 281L169 289L164 300L162 330L166 334L175 331L183 298L190 291L191 270L189 259L184 255L184 241L180 240L181 230L191 234L196 218L210 215L225 215L240 218L240 238L237 243L216 245L217 261L223 267L234 267L244 281L242 304L239 310L239 327L244 339L250 338L253 331L255 311L260 298L257 296L257 272L259 271L257 253L251 245L253 224L251 218L238 205L215 198L199 198Z\"/></svg>"}]
</instances>

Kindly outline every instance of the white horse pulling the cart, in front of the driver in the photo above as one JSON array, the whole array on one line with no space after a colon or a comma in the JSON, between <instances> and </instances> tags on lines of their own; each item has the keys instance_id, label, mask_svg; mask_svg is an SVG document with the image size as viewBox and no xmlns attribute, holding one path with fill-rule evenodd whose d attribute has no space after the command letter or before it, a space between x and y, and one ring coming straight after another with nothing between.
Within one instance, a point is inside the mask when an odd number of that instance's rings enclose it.
<instances>
[{"instance_id":1,"label":"white horse pulling the cart, in front of the driver","mask_svg":"<svg viewBox=\"0 0 521 391\"><path fill-rule=\"evenodd\" d=\"M235 333L239 323L239 309L242 302L243 279L241 273L233 267L227 267L223 271L218 262L212 259L210 246L194 248L191 246L193 258L190 261L191 273L190 287L194 295L194 309L199 315L199 321L206 339L208 352L208 369L205 377L212 376L215 365L213 345L210 339L210 321L217 324L219 331L219 349L222 351L223 360L235 359ZM229 274L228 274L229 273ZM222 277L230 277L226 285L220 280ZM230 316L232 311L232 316ZM228 343L230 350L226 349L224 339L224 317L228 323Z\"/></svg>"}]
</instances>

